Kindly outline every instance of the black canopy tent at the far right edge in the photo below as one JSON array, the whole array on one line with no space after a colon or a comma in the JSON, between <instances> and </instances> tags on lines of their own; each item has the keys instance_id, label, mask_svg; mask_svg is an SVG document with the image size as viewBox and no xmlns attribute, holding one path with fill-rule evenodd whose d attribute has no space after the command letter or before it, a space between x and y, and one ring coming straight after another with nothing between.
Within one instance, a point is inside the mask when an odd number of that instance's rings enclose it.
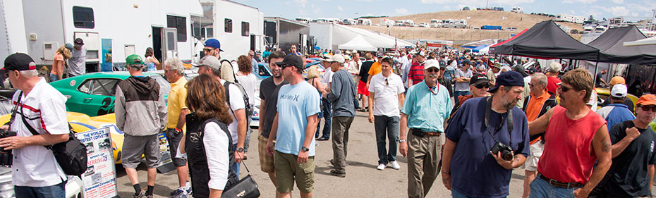
<instances>
[{"instance_id":1,"label":"black canopy tent at the far right edge","mask_svg":"<svg viewBox=\"0 0 656 198\"><path fill-rule=\"evenodd\" d=\"M645 39L638 27L611 28L588 45L600 50L599 62L656 65L656 45L624 46L624 42Z\"/></svg>"}]
</instances>

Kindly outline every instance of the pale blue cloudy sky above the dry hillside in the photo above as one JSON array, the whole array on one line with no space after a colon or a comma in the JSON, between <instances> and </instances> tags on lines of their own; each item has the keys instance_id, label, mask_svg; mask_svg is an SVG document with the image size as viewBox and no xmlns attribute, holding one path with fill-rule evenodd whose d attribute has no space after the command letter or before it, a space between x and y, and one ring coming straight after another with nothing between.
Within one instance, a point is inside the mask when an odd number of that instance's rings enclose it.
<instances>
[{"instance_id":1,"label":"pale blue cloudy sky above the dry hillside","mask_svg":"<svg viewBox=\"0 0 656 198\"><path fill-rule=\"evenodd\" d=\"M260 8L265 16L293 19L356 18L359 16L403 16L415 13L456 11L464 6L482 8L485 4L521 6L524 13L573 14L595 18L615 16L653 17L656 0L233 0Z\"/></svg>"}]
</instances>

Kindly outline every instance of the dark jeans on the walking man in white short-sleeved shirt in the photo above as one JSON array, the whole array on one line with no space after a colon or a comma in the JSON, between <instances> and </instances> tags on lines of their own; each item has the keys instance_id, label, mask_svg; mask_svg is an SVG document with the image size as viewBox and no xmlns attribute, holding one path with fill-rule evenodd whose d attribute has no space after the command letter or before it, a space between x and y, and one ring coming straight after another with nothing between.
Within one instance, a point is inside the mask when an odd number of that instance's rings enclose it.
<instances>
[{"instance_id":1,"label":"dark jeans on the walking man in white short-sleeved shirt","mask_svg":"<svg viewBox=\"0 0 656 198\"><path fill-rule=\"evenodd\" d=\"M378 146L378 164L387 165L390 161L396 161L396 147L399 146L399 117L374 116L374 127ZM389 140L389 151L385 148L387 143L385 137Z\"/></svg>"}]
</instances>

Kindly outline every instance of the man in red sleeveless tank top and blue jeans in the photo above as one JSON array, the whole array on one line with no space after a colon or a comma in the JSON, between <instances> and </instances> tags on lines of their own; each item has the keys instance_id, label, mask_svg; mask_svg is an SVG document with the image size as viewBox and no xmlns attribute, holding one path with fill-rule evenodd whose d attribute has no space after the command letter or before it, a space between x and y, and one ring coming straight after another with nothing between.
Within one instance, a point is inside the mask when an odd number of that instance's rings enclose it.
<instances>
[{"instance_id":1,"label":"man in red sleeveless tank top and blue jeans","mask_svg":"<svg viewBox=\"0 0 656 198\"><path fill-rule=\"evenodd\" d=\"M610 168L606 120L585 106L593 85L588 70L565 73L557 89L560 105L529 123L530 135L545 131L545 150L529 197L588 197Z\"/></svg>"}]
</instances>

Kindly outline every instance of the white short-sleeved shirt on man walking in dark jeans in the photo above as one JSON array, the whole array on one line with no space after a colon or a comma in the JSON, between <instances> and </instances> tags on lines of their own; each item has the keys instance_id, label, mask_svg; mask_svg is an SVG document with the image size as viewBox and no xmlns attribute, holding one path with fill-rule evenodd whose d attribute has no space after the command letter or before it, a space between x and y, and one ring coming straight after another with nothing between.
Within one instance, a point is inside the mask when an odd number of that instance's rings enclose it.
<instances>
[{"instance_id":1,"label":"white short-sleeved shirt on man walking in dark jeans","mask_svg":"<svg viewBox=\"0 0 656 198\"><path fill-rule=\"evenodd\" d=\"M385 83L387 79L387 84ZM369 92L374 92L374 116L399 116L399 94L406 91L399 75L391 73L385 78L382 73L374 75L369 84Z\"/></svg>"}]
</instances>

